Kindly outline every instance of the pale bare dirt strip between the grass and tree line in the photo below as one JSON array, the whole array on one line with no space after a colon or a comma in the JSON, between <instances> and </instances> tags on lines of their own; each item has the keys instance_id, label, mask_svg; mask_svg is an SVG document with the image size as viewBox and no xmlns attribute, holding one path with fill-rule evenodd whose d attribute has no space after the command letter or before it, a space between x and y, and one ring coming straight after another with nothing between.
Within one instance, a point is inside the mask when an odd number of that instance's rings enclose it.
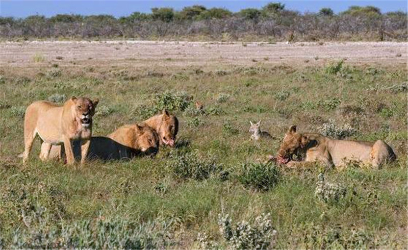
<instances>
[{"instance_id":1,"label":"pale bare dirt strip between the grass and tree line","mask_svg":"<svg viewBox=\"0 0 408 250\"><path fill-rule=\"evenodd\" d=\"M405 66L406 42L160 42L30 41L1 42L0 67L37 69L50 64L72 69L98 67L202 67L259 64L323 65L344 59L349 64ZM36 59L37 58L37 59Z\"/></svg>"}]
</instances>

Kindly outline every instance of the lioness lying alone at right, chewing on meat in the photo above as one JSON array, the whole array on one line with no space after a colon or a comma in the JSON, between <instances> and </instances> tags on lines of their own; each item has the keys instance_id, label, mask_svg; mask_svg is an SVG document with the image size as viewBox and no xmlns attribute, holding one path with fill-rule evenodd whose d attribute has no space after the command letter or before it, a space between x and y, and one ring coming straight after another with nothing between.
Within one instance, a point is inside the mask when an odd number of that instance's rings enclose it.
<instances>
[{"instance_id":1,"label":"lioness lying alone at right, chewing on meat","mask_svg":"<svg viewBox=\"0 0 408 250\"><path fill-rule=\"evenodd\" d=\"M291 161L296 153L305 154L300 161ZM277 162L296 166L304 162L321 162L328 166L344 166L349 161L358 161L380 167L396 159L393 149L384 141L335 140L314 133L297 133L296 126L290 127L278 150Z\"/></svg>"}]
</instances>

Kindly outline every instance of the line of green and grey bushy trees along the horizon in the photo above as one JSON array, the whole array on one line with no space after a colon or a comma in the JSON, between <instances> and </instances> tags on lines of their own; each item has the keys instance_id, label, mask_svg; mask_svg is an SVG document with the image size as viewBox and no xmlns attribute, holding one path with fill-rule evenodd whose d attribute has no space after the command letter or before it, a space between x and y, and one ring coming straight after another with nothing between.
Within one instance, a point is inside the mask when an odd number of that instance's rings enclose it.
<instances>
[{"instance_id":1,"label":"line of green and grey bushy trees along the horizon","mask_svg":"<svg viewBox=\"0 0 408 250\"><path fill-rule=\"evenodd\" d=\"M231 12L194 5L181 11L152 8L151 13L112 15L57 14L0 17L2 39L183 39L242 41L407 40L407 14L381 13L373 6L351 6L335 14L287 10L282 3Z\"/></svg>"}]
</instances>

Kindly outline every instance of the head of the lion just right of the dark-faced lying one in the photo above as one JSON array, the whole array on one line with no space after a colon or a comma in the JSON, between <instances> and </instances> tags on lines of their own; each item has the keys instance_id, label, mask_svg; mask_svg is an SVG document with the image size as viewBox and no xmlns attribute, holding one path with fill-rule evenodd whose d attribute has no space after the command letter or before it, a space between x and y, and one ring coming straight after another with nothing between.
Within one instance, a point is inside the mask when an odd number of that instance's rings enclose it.
<instances>
[{"instance_id":1,"label":"head of the lion just right of the dark-faced lying one","mask_svg":"<svg viewBox=\"0 0 408 250\"><path fill-rule=\"evenodd\" d=\"M163 143L173 147L175 137L179 132L179 120L174 115L170 115L167 110L163 110L162 122L158 131Z\"/></svg>"}]
</instances>

